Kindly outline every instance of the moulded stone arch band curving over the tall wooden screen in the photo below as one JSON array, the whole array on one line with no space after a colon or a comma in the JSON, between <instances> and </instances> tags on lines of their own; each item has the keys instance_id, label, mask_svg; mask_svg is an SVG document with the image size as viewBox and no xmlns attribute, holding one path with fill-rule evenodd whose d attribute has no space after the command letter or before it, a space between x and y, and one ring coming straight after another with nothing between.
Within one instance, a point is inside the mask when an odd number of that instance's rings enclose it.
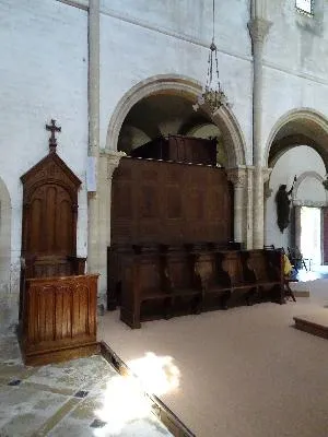
<instances>
[{"instance_id":1,"label":"moulded stone arch band curving over the tall wooden screen","mask_svg":"<svg viewBox=\"0 0 328 437\"><path fill-rule=\"evenodd\" d=\"M201 84L183 75L160 74L134 85L121 97L110 118L106 137L107 152L117 151L119 132L130 109L142 98L163 92L181 95L189 99L191 104L197 101L197 96L201 92ZM203 109L203 111L222 132L226 144L229 167L245 165L246 143L232 110L222 106L214 114L210 114L207 109Z\"/></svg>"}]
</instances>

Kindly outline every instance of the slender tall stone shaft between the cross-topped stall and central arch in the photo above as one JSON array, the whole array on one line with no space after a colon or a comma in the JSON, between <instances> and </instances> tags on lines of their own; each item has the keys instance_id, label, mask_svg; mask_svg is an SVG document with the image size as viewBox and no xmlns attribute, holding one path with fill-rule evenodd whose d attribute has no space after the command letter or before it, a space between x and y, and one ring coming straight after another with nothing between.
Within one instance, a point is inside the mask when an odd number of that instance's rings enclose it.
<instances>
[{"instance_id":1,"label":"slender tall stone shaft between the cross-topped stall and central arch","mask_svg":"<svg viewBox=\"0 0 328 437\"><path fill-rule=\"evenodd\" d=\"M98 270L98 196L97 169L99 156L99 0L89 7L89 149L87 160L94 187L87 188L87 271ZM92 191L90 191L92 190Z\"/></svg>"}]
</instances>

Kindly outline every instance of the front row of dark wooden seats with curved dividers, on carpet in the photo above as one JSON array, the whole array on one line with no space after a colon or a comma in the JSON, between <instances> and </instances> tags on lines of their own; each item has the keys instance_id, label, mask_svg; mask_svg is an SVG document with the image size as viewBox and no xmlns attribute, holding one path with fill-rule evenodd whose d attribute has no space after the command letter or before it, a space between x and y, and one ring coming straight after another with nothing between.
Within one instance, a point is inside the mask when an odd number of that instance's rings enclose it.
<instances>
[{"instance_id":1,"label":"front row of dark wooden seats with curved dividers, on carpet","mask_svg":"<svg viewBox=\"0 0 328 437\"><path fill-rule=\"evenodd\" d=\"M283 296L279 250L162 247L134 251L124 265L120 318L131 328Z\"/></svg>"}]
</instances>

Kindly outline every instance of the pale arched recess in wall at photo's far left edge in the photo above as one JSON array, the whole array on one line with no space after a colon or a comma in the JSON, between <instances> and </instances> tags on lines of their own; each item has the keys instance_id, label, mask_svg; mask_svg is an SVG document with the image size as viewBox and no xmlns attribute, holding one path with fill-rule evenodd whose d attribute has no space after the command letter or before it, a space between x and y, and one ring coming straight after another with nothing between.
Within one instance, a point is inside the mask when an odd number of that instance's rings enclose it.
<instances>
[{"instance_id":1,"label":"pale arched recess in wall at photo's far left edge","mask_svg":"<svg viewBox=\"0 0 328 437\"><path fill-rule=\"evenodd\" d=\"M12 322L10 287L11 265L11 200L8 188L0 178L0 320L1 331Z\"/></svg>"}]
</instances>

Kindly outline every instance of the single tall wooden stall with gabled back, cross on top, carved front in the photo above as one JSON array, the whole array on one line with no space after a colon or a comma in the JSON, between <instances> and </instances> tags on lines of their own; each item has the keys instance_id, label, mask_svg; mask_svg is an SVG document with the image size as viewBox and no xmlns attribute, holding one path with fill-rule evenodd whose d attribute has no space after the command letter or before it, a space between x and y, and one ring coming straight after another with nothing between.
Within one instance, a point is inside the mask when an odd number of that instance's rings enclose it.
<instances>
[{"instance_id":1,"label":"single tall wooden stall with gabled back, cross on top, carved front","mask_svg":"<svg viewBox=\"0 0 328 437\"><path fill-rule=\"evenodd\" d=\"M97 274L77 257L80 179L56 153L55 120L49 154L23 182L20 343L25 364L39 365L97 351Z\"/></svg>"}]
</instances>

